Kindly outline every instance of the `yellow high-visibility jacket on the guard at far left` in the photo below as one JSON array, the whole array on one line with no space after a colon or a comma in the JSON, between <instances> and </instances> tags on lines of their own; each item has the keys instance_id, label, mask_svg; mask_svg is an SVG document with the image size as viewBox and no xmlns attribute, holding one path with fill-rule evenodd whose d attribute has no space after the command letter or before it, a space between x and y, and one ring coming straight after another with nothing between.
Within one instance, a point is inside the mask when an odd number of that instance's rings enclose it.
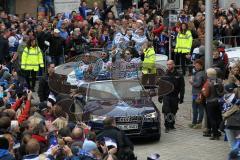
<instances>
[{"instance_id":1,"label":"yellow high-visibility jacket on the guard at far left","mask_svg":"<svg viewBox=\"0 0 240 160\"><path fill-rule=\"evenodd\" d=\"M44 67L43 55L39 47L25 47L21 59L21 69L39 71Z\"/></svg>"}]
</instances>

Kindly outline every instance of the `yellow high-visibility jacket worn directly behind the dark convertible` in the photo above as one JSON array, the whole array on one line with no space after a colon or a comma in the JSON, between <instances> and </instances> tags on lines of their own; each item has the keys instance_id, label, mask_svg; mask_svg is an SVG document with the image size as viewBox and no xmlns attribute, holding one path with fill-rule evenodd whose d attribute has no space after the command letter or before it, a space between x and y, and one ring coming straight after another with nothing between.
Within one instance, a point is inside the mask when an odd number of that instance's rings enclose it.
<instances>
[{"instance_id":1,"label":"yellow high-visibility jacket worn directly behind the dark convertible","mask_svg":"<svg viewBox=\"0 0 240 160\"><path fill-rule=\"evenodd\" d=\"M155 74L157 73L155 60L156 55L154 48L148 48L143 51L144 53L144 61L142 63L142 73L143 74Z\"/></svg>"}]
</instances>

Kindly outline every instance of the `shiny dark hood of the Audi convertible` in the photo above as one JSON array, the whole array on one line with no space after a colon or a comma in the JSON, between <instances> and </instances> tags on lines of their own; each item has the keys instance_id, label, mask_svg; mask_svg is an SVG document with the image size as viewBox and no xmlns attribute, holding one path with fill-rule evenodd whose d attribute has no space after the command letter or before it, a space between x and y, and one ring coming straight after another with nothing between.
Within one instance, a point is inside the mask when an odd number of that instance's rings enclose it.
<instances>
[{"instance_id":1,"label":"shiny dark hood of the Audi convertible","mask_svg":"<svg viewBox=\"0 0 240 160\"><path fill-rule=\"evenodd\" d=\"M126 117L141 116L154 112L155 105L149 99L91 101L84 107L85 112L98 116Z\"/></svg>"}]
</instances>

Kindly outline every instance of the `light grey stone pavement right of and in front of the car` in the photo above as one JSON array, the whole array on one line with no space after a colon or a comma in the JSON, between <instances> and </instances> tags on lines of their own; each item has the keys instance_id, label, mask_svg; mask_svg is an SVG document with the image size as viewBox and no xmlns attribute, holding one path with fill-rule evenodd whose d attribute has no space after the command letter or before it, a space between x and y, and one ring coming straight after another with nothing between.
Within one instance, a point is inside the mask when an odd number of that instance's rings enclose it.
<instances>
[{"instance_id":1,"label":"light grey stone pavement right of and in front of the car","mask_svg":"<svg viewBox=\"0 0 240 160\"><path fill-rule=\"evenodd\" d=\"M154 102L161 111L161 104L154 97ZM162 136L159 142L135 142L135 152L138 160L147 160L152 153L160 154L161 160L226 160L229 152L228 143L211 141L202 136L202 130L188 128L191 123L191 86L186 79L185 102L179 106L176 120L176 130L164 132L162 121ZM163 116L162 116L163 117ZM139 141L139 140L138 140Z\"/></svg>"}]
</instances>

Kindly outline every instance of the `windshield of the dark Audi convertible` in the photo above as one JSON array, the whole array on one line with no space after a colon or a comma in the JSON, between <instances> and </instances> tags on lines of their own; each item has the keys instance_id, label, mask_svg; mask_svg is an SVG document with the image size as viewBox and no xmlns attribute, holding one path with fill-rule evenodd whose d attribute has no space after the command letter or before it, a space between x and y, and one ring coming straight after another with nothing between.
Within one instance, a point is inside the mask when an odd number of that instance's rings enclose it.
<instances>
[{"instance_id":1,"label":"windshield of the dark Audi convertible","mask_svg":"<svg viewBox=\"0 0 240 160\"><path fill-rule=\"evenodd\" d=\"M105 81L90 84L88 100L140 99L144 90L138 81Z\"/></svg>"}]
</instances>

